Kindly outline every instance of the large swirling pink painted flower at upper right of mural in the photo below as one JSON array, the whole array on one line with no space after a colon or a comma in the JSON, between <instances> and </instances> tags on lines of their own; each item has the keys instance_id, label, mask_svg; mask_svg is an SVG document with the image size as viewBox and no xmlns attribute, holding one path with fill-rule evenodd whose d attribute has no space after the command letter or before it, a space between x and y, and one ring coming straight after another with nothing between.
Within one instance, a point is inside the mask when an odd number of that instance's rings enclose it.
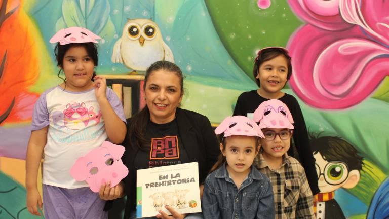
<instances>
[{"instance_id":1,"label":"large swirling pink painted flower at upper right of mural","mask_svg":"<svg viewBox=\"0 0 389 219\"><path fill-rule=\"evenodd\" d=\"M351 28L334 31L307 24L288 42L294 71L290 86L317 108L356 105L389 75L389 1L338 2Z\"/></svg>"}]
</instances>

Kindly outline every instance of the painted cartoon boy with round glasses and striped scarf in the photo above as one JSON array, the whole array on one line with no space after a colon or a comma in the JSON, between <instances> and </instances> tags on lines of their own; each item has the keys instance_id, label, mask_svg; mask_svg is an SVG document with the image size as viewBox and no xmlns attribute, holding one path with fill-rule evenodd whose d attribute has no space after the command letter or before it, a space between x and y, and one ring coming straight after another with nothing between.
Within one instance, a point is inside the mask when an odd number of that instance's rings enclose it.
<instances>
[{"instance_id":1,"label":"painted cartoon boy with round glasses and striped scarf","mask_svg":"<svg viewBox=\"0 0 389 219\"><path fill-rule=\"evenodd\" d=\"M320 189L320 193L314 197L316 218L345 219L334 199L334 192L339 188L351 189L358 184L363 157L358 155L353 145L340 137L310 137Z\"/></svg>"}]
</instances>

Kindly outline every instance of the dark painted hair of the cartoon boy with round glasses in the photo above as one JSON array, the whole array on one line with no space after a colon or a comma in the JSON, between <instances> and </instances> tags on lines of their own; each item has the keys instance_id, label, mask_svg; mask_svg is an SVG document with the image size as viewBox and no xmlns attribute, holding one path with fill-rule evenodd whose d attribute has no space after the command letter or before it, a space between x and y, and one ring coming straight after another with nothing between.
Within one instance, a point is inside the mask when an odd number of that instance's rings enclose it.
<instances>
[{"instance_id":1,"label":"dark painted hair of the cartoon boy with round glasses","mask_svg":"<svg viewBox=\"0 0 389 219\"><path fill-rule=\"evenodd\" d=\"M363 157L354 146L337 136L314 136L309 134L310 145L314 154L320 153L324 160L341 161L347 164L348 170L362 170Z\"/></svg>"}]
</instances>

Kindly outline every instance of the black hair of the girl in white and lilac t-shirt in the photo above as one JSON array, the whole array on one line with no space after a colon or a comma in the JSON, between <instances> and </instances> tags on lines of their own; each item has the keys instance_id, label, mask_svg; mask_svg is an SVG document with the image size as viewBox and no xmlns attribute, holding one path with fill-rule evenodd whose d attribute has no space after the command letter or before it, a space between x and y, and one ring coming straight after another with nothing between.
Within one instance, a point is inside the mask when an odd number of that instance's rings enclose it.
<instances>
[{"instance_id":1,"label":"black hair of the girl in white and lilac t-shirt","mask_svg":"<svg viewBox=\"0 0 389 219\"><path fill-rule=\"evenodd\" d=\"M60 68L57 76L58 78L62 79L65 82L65 86L66 86L66 78L62 78L60 74L61 71L63 70L63 59L65 57L65 53L72 47L84 47L89 57L91 57L91 59L93 60L93 64L95 66L99 64L97 44L90 42L90 43L72 43L72 44L61 45L57 43L57 45L54 48L54 54L55 54L55 59L57 60L57 66ZM92 81L95 76L96 76L96 72L93 71Z\"/></svg>"}]
</instances>

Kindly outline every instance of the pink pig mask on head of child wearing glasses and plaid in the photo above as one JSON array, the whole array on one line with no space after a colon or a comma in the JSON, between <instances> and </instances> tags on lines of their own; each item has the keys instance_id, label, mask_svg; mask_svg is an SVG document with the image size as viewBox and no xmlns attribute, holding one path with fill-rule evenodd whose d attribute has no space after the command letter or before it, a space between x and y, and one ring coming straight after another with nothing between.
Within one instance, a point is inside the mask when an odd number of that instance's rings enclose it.
<instances>
[{"instance_id":1,"label":"pink pig mask on head of child wearing glasses and plaid","mask_svg":"<svg viewBox=\"0 0 389 219\"><path fill-rule=\"evenodd\" d=\"M293 117L288 106L281 100L270 99L262 102L254 111L254 121L260 122L259 128L294 129Z\"/></svg>"}]
</instances>

